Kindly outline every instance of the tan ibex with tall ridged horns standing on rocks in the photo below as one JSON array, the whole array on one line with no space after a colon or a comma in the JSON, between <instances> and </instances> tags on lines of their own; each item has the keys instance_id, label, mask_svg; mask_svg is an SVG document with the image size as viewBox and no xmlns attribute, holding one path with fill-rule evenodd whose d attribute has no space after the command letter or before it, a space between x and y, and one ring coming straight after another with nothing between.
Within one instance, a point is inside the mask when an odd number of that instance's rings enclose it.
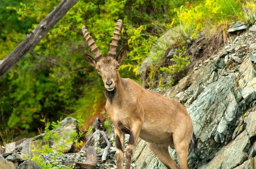
<instances>
[{"instance_id":1,"label":"tan ibex with tall ridged horns standing on rocks","mask_svg":"<svg viewBox=\"0 0 256 169\"><path fill-rule=\"evenodd\" d=\"M85 26L82 32L95 59L85 55L85 60L96 68L105 84L106 110L114 125L116 139L117 168L123 168L124 135L129 134L125 149L125 169L130 169L131 158L138 137L145 140L149 148L168 169L187 169L189 148L197 141L193 124L186 108L176 99L144 89L131 79L119 76L119 65L125 57L122 48L116 56L116 48L122 29L122 20L114 28L108 56L102 56ZM169 155L168 147L176 149L180 167Z\"/></svg>"}]
</instances>

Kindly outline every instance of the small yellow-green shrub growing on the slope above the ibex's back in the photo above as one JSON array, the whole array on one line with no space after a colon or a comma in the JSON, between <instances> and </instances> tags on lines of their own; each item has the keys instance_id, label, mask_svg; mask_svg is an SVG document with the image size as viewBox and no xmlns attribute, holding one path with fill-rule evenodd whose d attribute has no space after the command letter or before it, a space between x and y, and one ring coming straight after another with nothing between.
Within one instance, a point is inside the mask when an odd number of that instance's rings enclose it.
<instances>
[{"instance_id":1,"label":"small yellow-green shrub growing on the slope above the ibex's back","mask_svg":"<svg viewBox=\"0 0 256 169\"><path fill-rule=\"evenodd\" d=\"M170 59L172 62L174 62L173 65L166 67L160 68L160 70L168 74L171 79L169 79L169 84L168 86L174 85L174 78L176 76L180 76L180 72L182 72L186 66L189 64L189 59L190 56L186 56L186 48L183 47L182 49L177 49L176 52L178 54L175 54L172 59ZM162 84L162 79L159 81L159 86L160 87L166 87ZM167 86L167 87L168 87Z\"/></svg>"}]
</instances>

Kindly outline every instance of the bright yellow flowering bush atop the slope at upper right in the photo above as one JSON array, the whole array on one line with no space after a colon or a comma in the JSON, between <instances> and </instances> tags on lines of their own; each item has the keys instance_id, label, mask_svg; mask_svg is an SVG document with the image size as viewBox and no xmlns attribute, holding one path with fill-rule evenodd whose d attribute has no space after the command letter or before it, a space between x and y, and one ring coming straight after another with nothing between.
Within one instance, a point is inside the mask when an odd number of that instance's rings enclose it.
<instances>
[{"instance_id":1,"label":"bright yellow flowering bush atop the slope at upper right","mask_svg":"<svg viewBox=\"0 0 256 169\"><path fill-rule=\"evenodd\" d=\"M198 33L217 25L219 20L241 19L241 3L239 0L204 0L198 6L187 4L176 12L184 32L196 38Z\"/></svg>"}]
</instances>

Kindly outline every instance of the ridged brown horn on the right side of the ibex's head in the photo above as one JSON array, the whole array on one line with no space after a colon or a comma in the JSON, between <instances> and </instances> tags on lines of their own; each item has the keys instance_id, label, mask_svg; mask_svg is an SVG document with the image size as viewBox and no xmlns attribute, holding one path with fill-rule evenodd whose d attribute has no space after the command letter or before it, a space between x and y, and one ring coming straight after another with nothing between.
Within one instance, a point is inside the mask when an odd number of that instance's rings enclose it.
<instances>
[{"instance_id":1,"label":"ridged brown horn on the right side of the ibex's head","mask_svg":"<svg viewBox=\"0 0 256 169\"><path fill-rule=\"evenodd\" d=\"M110 49L108 52L108 56L115 57L116 56L116 48L118 43L118 38L120 36L121 30L122 30L122 20L117 20L116 28L114 28L115 31L113 32L112 42L110 45Z\"/></svg>"}]
</instances>

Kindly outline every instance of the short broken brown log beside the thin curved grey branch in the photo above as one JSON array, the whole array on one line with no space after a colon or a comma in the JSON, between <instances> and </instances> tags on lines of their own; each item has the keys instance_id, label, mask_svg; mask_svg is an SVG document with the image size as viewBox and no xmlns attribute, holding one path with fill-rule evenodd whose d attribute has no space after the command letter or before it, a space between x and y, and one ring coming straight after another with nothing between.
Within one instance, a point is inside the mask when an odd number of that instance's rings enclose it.
<instances>
[{"instance_id":1,"label":"short broken brown log beside the thin curved grey branch","mask_svg":"<svg viewBox=\"0 0 256 169\"><path fill-rule=\"evenodd\" d=\"M97 155L93 146L87 147L86 157L87 157L86 163L81 163L81 162L75 162L75 163L81 166L81 169L95 169L97 165Z\"/></svg>"}]
</instances>

